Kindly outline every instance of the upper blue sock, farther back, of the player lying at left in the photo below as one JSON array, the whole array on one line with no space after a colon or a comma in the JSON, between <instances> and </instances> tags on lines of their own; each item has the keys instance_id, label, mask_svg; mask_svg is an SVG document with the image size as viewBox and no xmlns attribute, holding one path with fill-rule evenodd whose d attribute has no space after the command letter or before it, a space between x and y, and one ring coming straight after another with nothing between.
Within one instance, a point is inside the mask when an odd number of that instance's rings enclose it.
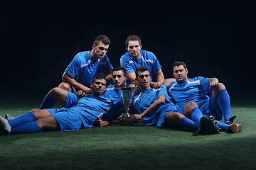
<instances>
[{"instance_id":1,"label":"upper blue sock, farther back, of the player lying at left","mask_svg":"<svg viewBox=\"0 0 256 170\"><path fill-rule=\"evenodd\" d=\"M25 113L23 115L19 115L15 119L8 120L11 128L16 127L17 125L21 125L23 123L30 123L36 120L35 115L32 112Z\"/></svg>"}]
</instances>

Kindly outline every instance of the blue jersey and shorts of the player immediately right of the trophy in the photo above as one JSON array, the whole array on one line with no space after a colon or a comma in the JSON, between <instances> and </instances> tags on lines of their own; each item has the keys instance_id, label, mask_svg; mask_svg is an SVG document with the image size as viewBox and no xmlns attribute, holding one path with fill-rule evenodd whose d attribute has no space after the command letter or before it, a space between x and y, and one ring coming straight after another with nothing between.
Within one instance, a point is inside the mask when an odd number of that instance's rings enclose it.
<instances>
[{"instance_id":1,"label":"blue jersey and shorts of the player immediately right of the trophy","mask_svg":"<svg viewBox=\"0 0 256 170\"><path fill-rule=\"evenodd\" d=\"M147 113L142 119L145 125L156 125L160 127L161 123L164 123L165 115L169 112L176 111L174 108L174 103L171 102L170 97L168 96L165 85L163 85L159 89L149 89L147 91L143 91L137 94L136 96L133 96L132 107L130 109L131 114L143 113L161 95L166 96L166 103L163 103L159 108L156 108L154 111Z\"/></svg>"}]
</instances>

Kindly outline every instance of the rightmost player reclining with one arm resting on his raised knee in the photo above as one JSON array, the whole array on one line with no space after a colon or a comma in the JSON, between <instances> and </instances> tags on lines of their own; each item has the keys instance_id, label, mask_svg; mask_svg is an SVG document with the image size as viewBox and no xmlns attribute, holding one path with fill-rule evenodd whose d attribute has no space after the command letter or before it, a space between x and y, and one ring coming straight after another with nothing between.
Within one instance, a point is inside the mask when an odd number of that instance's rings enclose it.
<instances>
[{"instance_id":1,"label":"rightmost player reclining with one arm resting on his raised knee","mask_svg":"<svg viewBox=\"0 0 256 170\"><path fill-rule=\"evenodd\" d=\"M242 130L242 125L233 123L236 116L231 117L230 97L224 84L215 77L188 78L188 68L184 62L174 62L172 69L176 81L165 79L164 84L174 103L181 105L196 102L203 115L207 117L213 115L218 120L217 126L221 130L228 132ZM225 123L220 122L222 118Z\"/></svg>"}]
</instances>

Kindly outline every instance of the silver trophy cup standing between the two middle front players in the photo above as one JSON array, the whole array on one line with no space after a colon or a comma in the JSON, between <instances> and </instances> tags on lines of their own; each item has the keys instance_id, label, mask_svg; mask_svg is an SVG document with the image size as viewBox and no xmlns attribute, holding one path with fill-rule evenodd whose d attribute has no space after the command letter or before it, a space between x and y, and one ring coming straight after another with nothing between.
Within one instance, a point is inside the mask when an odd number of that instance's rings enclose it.
<instances>
[{"instance_id":1,"label":"silver trophy cup standing between the two middle front players","mask_svg":"<svg viewBox=\"0 0 256 170\"><path fill-rule=\"evenodd\" d=\"M120 125L129 125L128 119L129 119L129 106L132 101L132 95L134 92L134 87L123 87L119 91L119 96L122 102L122 105L124 106L124 114L120 120Z\"/></svg>"}]
</instances>

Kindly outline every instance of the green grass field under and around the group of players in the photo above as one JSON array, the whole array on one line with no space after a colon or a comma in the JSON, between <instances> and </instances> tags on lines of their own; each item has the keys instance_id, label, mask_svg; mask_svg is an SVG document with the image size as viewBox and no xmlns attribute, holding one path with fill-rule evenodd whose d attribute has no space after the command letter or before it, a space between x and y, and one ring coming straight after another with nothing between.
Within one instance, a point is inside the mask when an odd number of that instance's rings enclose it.
<instances>
[{"instance_id":1,"label":"green grass field under and around the group of players","mask_svg":"<svg viewBox=\"0 0 256 170\"><path fill-rule=\"evenodd\" d=\"M39 104L2 98L0 115L17 116ZM232 115L242 132L198 135L111 125L0 136L0 169L255 169L256 106L232 105Z\"/></svg>"}]
</instances>

